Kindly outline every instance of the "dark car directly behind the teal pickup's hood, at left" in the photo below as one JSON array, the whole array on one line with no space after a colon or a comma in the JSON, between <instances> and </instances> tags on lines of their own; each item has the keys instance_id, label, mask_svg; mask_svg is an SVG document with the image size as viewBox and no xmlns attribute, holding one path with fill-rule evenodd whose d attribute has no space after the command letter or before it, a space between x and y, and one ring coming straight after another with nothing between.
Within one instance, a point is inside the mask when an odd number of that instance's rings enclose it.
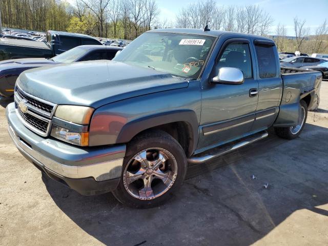
<instances>
[{"instance_id":1,"label":"dark car directly behind the teal pickup's hood, at left","mask_svg":"<svg viewBox=\"0 0 328 246\"><path fill-rule=\"evenodd\" d=\"M0 95L11 97L17 77L25 70L85 60L111 60L120 47L83 45L52 58L25 58L0 61Z\"/></svg>"}]
</instances>

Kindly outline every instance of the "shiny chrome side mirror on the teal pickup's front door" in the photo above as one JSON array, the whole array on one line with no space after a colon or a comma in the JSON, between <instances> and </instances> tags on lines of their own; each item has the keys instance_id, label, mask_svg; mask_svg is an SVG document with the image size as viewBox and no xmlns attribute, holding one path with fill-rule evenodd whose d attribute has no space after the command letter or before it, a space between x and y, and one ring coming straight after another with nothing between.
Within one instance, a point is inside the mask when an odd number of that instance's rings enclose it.
<instances>
[{"instance_id":1,"label":"shiny chrome side mirror on the teal pickup's front door","mask_svg":"<svg viewBox=\"0 0 328 246\"><path fill-rule=\"evenodd\" d=\"M244 83L244 74L239 68L220 68L219 74L212 78L211 82L223 85L240 85Z\"/></svg>"}]
</instances>

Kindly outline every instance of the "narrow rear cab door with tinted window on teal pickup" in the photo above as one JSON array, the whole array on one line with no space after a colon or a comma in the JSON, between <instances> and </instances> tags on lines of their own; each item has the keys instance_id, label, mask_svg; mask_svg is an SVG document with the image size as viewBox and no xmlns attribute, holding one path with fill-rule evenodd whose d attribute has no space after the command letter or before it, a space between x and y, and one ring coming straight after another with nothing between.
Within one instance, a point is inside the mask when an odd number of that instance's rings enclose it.
<instances>
[{"instance_id":1,"label":"narrow rear cab door with tinted window on teal pickup","mask_svg":"<svg viewBox=\"0 0 328 246\"><path fill-rule=\"evenodd\" d=\"M282 79L275 43L268 40L255 40L254 48L259 91L252 131L258 131L270 127L277 117L282 95Z\"/></svg>"}]
</instances>

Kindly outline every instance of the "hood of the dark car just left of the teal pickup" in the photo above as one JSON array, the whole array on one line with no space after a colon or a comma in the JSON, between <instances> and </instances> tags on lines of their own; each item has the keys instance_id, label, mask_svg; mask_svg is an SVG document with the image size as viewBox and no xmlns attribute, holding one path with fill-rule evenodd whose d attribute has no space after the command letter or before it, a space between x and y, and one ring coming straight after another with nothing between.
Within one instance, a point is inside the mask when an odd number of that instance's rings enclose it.
<instances>
[{"instance_id":1,"label":"hood of the dark car just left of the teal pickup","mask_svg":"<svg viewBox=\"0 0 328 246\"><path fill-rule=\"evenodd\" d=\"M0 61L0 70L18 67L42 67L52 64L58 64L46 58L25 58Z\"/></svg>"}]
</instances>

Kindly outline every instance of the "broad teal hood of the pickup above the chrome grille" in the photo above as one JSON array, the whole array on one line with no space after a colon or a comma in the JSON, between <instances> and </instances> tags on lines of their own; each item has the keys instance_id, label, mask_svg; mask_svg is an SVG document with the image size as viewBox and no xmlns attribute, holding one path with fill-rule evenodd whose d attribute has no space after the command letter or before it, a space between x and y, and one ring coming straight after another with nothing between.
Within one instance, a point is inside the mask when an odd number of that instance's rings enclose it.
<instances>
[{"instance_id":1,"label":"broad teal hood of the pickup above the chrome grille","mask_svg":"<svg viewBox=\"0 0 328 246\"><path fill-rule=\"evenodd\" d=\"M188 81L150 68L110 60L81 61L28 70L18 86L55 104L98 108L114 101L188 87Z\"/></svg>"}]
</instances>

